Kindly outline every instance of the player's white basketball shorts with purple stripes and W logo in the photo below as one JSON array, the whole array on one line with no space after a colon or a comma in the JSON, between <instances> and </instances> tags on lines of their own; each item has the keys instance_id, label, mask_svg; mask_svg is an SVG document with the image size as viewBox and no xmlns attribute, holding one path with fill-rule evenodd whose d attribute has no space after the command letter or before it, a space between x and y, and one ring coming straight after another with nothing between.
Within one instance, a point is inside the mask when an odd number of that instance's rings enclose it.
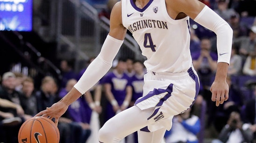
<instances>
[{"instance_id":1,"label":"player's white basketball shorts with purple stripes and W logo","mask_svg":"<svg viewBox=\"0 0 256 143\"><path fill-rule=\"evenodd\" d=\"M141 110L155 108L149 126L141 131L171 129L172 117L190 108L199 92L199 79L193 67L180 73L148 71L144 75L143 96L135 105Z\"/></svg>"}]
</instances>

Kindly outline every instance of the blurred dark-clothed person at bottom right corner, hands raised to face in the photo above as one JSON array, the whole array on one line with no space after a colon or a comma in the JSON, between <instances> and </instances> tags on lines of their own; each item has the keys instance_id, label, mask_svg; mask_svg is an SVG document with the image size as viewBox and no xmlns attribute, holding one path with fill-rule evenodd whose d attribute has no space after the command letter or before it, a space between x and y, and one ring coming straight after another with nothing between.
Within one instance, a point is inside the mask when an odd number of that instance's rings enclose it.
<instances>
[{"instance_id":1,"label":"blurred dark-clothed person at bottom right corner, hands raised to face","mask_svg":"<svg viewBox=\"0 0 256 143\"><path fill-rule=\"evenodd\" d=\"M253 132L248 123L242 123L240 114L232 112L217 140L212 143L250 143Z\"/></svg>"}]
</instances>

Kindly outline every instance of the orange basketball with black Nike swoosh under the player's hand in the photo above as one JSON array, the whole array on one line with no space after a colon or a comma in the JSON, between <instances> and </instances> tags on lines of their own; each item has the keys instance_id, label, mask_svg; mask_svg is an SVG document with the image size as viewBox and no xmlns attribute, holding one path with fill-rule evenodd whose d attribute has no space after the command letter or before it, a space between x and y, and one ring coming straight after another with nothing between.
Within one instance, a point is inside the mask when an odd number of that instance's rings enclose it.
<instances>
[{"instance_id":1,"label":"orange basketball with black Nike swoosh under the player's hand","mask_svg":"<svg viewBox=\"0 0 256 143\"><path fill-rule=\"evenodd\" d=\"M59 143L59 130L46 117L32 117L19 130L19 143Z\"/></svg>"}]
</instances>

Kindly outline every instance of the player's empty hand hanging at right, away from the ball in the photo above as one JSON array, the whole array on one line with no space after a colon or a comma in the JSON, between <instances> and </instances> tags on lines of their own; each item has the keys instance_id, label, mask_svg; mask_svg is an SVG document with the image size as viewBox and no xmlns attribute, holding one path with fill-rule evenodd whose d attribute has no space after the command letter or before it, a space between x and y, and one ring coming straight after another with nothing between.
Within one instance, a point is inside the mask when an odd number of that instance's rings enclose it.
<instances>
[{"instance_id":1,"label":"player's empty hand hanging at right, away from the ball","mask_svg":"<svg viewBox=\"0 0 256 143\"><path fill-rule=\"evenodd\" d=\"M216 102L216 106L228 100L228 84L226 81L214 81L210 91L212 92L212 101Z\"/></svg>"}]
</instances>

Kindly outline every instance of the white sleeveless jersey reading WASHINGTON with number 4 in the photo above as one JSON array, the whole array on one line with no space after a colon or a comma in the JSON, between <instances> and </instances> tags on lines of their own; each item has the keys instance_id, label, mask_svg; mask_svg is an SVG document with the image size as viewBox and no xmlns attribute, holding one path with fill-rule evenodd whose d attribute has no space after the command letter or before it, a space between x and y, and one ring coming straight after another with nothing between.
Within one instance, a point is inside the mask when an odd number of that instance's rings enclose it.
<instances>
[{"instance_id":1,"label":"white sleeveless jersey reading WASHINGTON with number 4","mask_svg":"<svg viewBox=\"0 0 256 143\"><path fill-rule=\"evenodd\" d=\"M165 0L149 0L144 8L122 0L122 22L140 45L148 71L182 72L192 66L189 17L173 20Z\"/></svg>"}]
</instances>

